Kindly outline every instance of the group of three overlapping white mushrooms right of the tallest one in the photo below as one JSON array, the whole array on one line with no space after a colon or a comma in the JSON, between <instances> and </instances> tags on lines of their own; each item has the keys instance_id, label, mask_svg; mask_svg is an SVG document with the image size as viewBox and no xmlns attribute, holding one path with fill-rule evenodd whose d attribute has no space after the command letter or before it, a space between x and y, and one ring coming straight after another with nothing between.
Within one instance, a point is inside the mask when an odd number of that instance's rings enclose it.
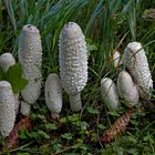
<instances>
[{"instance_id":1,"label":"group of three overlapping white mushrooms right of the tallest one","mask_svg":"<svg viewBox=\"0 0 155 155\"><path fill-rule=\"evenodd\" d=\"M117 89L113 86L114 82L112 80L111 85L110 80L103 84L105 78L101 81L102 96L105 104L108 104L108 110L115 110L112 106L115 106L116 103L118 105L118 97L124 100L123 103L127 107L132 107L138 103L140 97L147 100L152 96L153 80L147 58L141 43L128 43L121 61L126 70L120 72L117 76ZM117 64L115 59L114 63ZM116 64L115 66L117 66Z\"/></svg>"}]
</instances>

